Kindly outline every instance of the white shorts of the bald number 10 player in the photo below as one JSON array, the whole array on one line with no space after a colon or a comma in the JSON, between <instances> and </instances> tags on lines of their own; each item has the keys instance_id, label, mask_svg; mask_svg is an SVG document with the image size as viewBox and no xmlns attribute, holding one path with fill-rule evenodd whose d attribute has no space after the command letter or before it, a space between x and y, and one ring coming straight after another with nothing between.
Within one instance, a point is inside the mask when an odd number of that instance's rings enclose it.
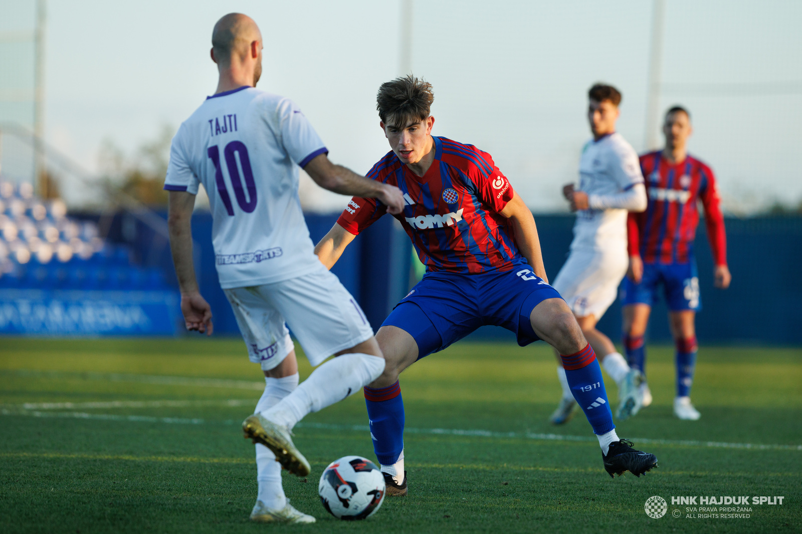
<instances>
[{"instance_id":1,"label":"white shorts of the bald number 10 player","mask_svg":"<svg viewBox=\"0 0 802 534\"><path fill-rule=\"evenodd\" d=\"M271 370L293 350L290 326L312 366L373 336L362 309L334 274L319 270L273 284L223 289L251 362Z\"/></svg>"}]
</instances>

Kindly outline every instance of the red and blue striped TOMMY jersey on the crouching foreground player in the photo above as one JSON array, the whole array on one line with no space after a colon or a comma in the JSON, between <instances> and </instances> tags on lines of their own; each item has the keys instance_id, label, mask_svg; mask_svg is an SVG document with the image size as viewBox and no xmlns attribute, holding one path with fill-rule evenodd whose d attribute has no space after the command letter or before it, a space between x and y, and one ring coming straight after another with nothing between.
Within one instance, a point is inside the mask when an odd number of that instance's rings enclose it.
<instances>
[{"instance_id":1,"label":"red and blue striped TOMMY jersey on the crouching foreground player","mask_svg":"<svg viewBox=\"0 0 802 534\"><path fill-rule=\"evenodd\" d=\"M492 157L470 144L433 139L435 160L424 176L416 176L394 152L367 173L403 192L406 206L395 218L427 272L504 272L526 263L499 213L515 193ZM378 200L354 196L337 222L358 235L386 212Z\"/></svg>"}]
</instances>

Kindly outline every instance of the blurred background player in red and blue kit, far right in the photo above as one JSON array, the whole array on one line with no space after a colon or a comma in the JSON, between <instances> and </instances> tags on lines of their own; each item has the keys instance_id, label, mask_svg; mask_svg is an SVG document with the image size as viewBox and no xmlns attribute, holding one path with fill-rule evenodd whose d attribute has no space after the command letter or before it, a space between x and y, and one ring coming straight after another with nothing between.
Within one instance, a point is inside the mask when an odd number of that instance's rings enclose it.
<instances>
[{"instance_id":1,"label":"blurred background player in red and blue kit, far right","mask_svg":"<svg viewBox=\"0 0 802 534\"><path fill-rule=\"evenodd\" d=\"M668 305L668 323L677 346L677 396L674 415L699 419L691 404L691 383L696 363L695 314L702 309L694 257L699 200L704 207L707 239L715 261L715 287L727 289L727 237L719 207L719 193L711 168L687 153L693 132L691 114L684 107L666 111L662 127L666 147L641 156L641 170L649 188L646 212L630 213L628 220L630 268L623 287L624 347L633 369L646 376L643 335L658 285ZM646 380L640 386L643 406L651 403Z\"/></svg>"}]
</instances>

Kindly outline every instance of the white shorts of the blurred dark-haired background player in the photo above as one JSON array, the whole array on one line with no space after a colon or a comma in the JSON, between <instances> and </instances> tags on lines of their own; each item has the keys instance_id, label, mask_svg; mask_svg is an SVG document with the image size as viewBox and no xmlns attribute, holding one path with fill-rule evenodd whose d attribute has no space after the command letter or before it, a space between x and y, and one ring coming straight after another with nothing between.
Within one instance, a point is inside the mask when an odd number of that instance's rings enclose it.
<instances>
[{"instance_id":1,"label":"white shorts of the blurred dark-haired background player","mask_svg":"<svg viewBox=\"0 0 802 534\"><path fill-rule=\"evenodd\" d=\"M552 286L574 315L601 319L618 296L629 261L617 250L573 249Z\"/></svg>"}]
</instances>

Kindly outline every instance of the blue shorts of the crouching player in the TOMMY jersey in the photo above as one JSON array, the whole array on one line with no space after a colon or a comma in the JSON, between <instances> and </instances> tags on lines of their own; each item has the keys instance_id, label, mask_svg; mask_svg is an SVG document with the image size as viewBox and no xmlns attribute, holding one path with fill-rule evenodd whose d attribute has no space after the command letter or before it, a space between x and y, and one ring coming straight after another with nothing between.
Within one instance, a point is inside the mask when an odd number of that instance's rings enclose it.
<instances>
[{"instance_id":1,"label":"blue shorts of the crouching player in the TOMMY jersey","mask_svg":"<svg viewBox=\"0 0 802 534\"><path fill-rule=\"evenodd\" d=\"M419 359L484 325L503 326L526 346L540 339L529 315L549 298L562 297L525 264L504 273L426 273L382 326L397 326L415 338Z\"/></svg>"}]
</instances>

